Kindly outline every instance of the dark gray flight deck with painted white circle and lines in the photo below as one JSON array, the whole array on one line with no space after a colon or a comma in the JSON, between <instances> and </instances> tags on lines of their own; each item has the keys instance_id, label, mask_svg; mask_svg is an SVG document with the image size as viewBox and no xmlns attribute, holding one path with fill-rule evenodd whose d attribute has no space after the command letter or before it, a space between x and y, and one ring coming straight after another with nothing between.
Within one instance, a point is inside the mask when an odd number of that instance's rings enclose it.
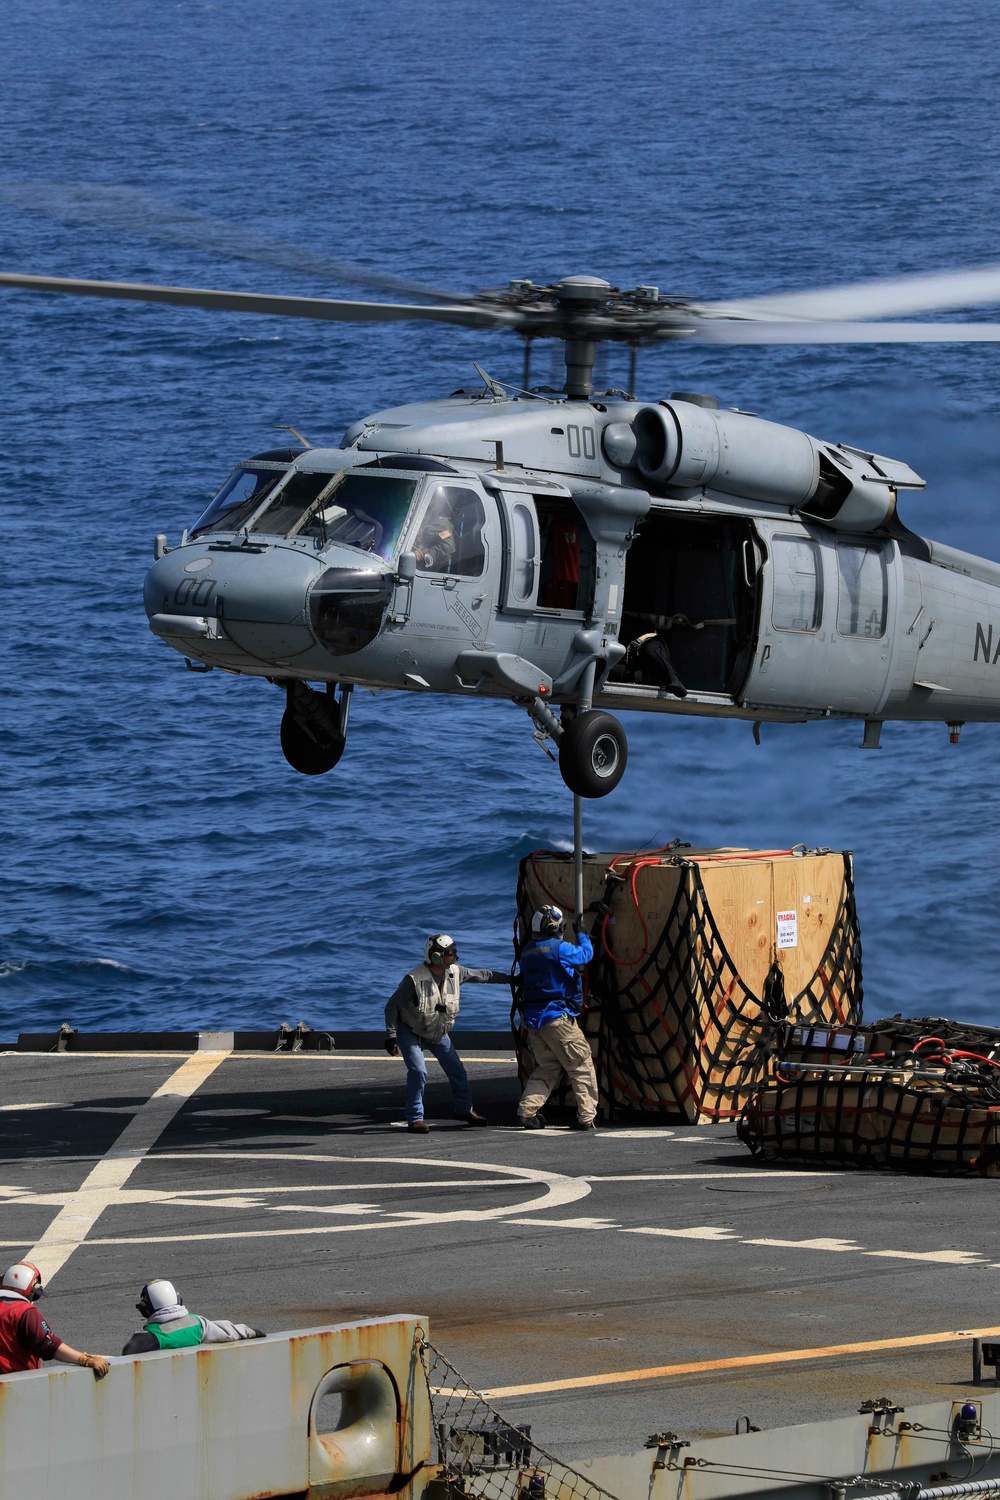
<instances>
[{"instance_id":1,"label":"dark gray flight deck with painted white circle and lines","mask_svg":"<svg viewBox=\"0 0 1000 1500\"><path fill-rule=\"evenodd\" d=\"M493 1128L432 1072L414 1136L382 1053L0 1054L0 1258L40 1245L49 1322L106 1353L151 1275L270 1329L427 1312L565 1456L969 1389L994 1182L759 1167L729 1125L520 1131L513 1058L466 1060Z\"/></svg>"}]
</instances>

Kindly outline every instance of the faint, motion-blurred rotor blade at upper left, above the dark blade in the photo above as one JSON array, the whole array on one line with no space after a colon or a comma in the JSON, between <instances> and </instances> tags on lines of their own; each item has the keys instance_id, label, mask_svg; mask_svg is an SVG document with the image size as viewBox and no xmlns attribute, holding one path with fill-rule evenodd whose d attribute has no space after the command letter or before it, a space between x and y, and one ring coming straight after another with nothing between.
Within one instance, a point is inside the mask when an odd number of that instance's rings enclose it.
<instances>
[{"instance_id":1,"label":"faint, motion-blurred rotor blade at upper left, above the dark blade","mask_svg":"<svg viewBox=\"0 0 1000 1500\"><path fill-rule=\"evenodd\" d=\"M352 286L369 286L372 291L394 291L406 297L430 297L433 302L453 304L468 300L462 292L421 286L403 276L373 272L352 261L322 255L319 250L268 240L226 219L183 208L138 188L120 188L114 183L0 183L0 202L43 213L49 219L91 224L115 234L138 234L168 244L184 244L195 250L324 276Z\"/></svg>"}]
</instances>

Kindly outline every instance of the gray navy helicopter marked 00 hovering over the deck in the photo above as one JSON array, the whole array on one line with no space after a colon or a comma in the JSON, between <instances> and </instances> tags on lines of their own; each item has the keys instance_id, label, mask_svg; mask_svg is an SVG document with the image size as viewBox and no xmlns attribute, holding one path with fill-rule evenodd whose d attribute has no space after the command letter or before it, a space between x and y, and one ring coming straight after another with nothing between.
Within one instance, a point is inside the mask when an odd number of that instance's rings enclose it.
<instances>
[{"instance_id":1,"label":"gray navy helicopter marked 00 hovering over the deck","mask_svg":"<svg viewBox=\"0 0 1000 1500\"><path fill-rule=\"evenodd\" d=\"M370 284L370 282L369 282ZM507 699L577 796L618 786L618 712L753 722L1000 718L1000 564L897 513L924 480L706 394L597 393L600 340L996 340L1000 324L880 321L1000 300L1000 267L742 303L594 276L423 303L342 302L1 274L42 292L295 316L513 330L514 388L378 411L339 447L243 459L145 578L150 628L196 670L285 693L306 776L340 759L354 687ZM397 284L405 286L405 284ZM535 339L565 390L529 388ZM321 686L316 686L321 684ZM552 754L552 750L549 750Z\"/></svg>"}]
</instances>

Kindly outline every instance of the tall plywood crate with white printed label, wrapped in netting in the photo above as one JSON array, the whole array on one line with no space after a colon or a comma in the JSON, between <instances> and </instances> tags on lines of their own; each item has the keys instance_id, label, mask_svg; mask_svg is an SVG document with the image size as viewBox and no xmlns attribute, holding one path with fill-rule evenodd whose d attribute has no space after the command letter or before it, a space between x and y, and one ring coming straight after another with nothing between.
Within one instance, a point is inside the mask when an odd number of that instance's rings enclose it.
<instances>
[{"instance_id":1,"label":"tall plywood crate with white printed label, wrapped in netting","mask_svg":"<svg viewBox=\"0 0 1000 1500\"><path fill-rule=\"evenodd\" d=\"M570 855L538 850L522 861L519 942L546 902L573 910ZM849 854L588 855L583 902L600 908L583 1028L606 1116L736 1118L769 1077L790 1022L861 1018ZM519 1060L523 1077L525 1035Z\"/></svg>"}]
</instances>

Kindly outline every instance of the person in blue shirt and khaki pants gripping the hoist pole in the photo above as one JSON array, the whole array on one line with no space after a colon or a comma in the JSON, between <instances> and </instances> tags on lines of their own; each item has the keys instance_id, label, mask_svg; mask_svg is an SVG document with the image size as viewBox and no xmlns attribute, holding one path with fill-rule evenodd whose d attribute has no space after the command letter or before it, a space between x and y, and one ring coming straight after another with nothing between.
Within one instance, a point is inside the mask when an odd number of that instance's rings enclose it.
<instances>
[{"instance_id":1,"label":"person in blue shirt and khaki pants gripping the hoist pole","mask_svg":"<svg viewBox=\"0 0 1000 1500\"><path fill-rule=\"evenodd\" d=\"M525 1130L544 1130L541 1107L565 1072L576 1100L576 1130L594 1130L597 1074L591 1044L577 1024L583 1010L583 969L594 957L586 933L564 942L565 918L543 906L531 918L531 940L520 951L522 1012L535 1059L517 1119Z\"/></svg>"}]
</instances>

